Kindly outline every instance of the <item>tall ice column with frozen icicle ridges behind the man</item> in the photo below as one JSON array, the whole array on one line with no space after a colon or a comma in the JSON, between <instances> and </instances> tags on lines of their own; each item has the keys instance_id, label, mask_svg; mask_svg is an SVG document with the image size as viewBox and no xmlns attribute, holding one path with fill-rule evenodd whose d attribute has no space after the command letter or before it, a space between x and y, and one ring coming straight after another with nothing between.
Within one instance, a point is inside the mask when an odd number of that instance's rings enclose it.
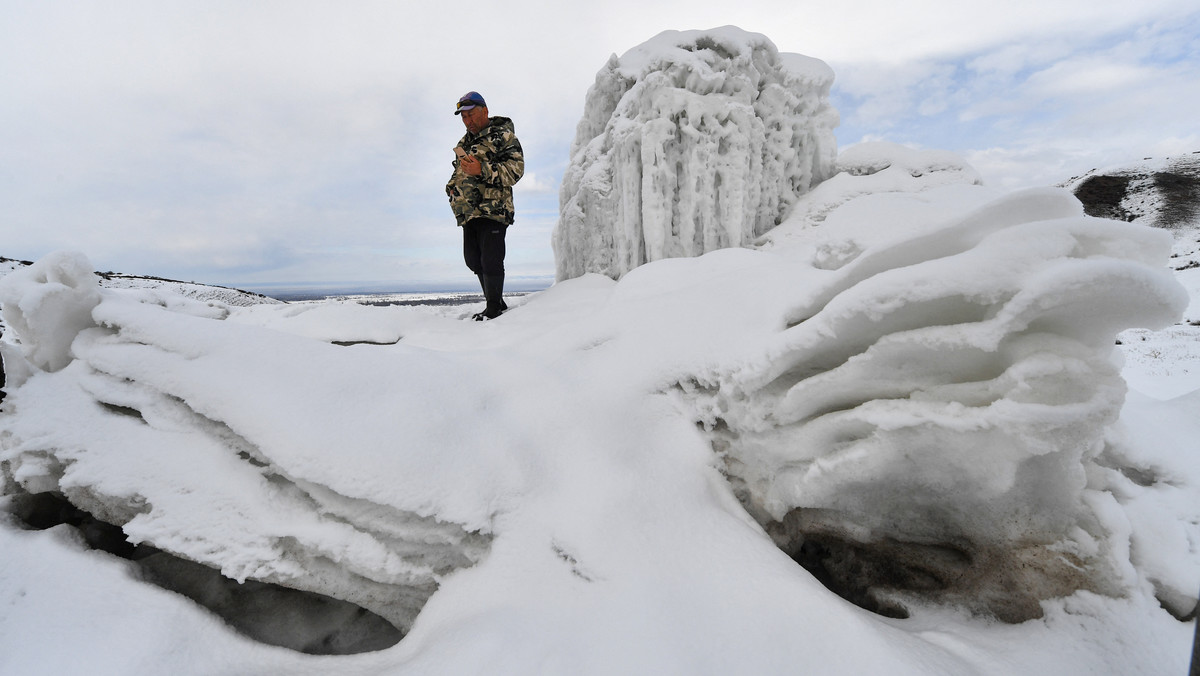
<instances>
[{"instance_id":1,"label":"tall ice column with frozen icicle ridges behind the man","mask_svg":"<svg viewBox=\"0 0 1200 676\"><path fill-rule=\"evenodd\" d=\"M833 72L726 26L613 55L559 196L557 277L742 246L834 172Z\"/></svg>"}]
</instances>

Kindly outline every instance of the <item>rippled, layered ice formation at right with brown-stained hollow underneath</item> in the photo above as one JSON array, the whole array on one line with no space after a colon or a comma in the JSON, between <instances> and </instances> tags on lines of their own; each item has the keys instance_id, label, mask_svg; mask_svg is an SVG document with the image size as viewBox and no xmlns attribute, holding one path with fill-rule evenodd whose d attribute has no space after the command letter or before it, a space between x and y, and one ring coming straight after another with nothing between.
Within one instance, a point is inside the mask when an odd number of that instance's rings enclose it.
<instances>
[{"instance_id":1,"label":"rippled, layered ice formation at right with brown-stained hollow underneath","mask_svg":"<svg viewBox=\"0 0 1200 676\"><path fill-rule=\"evenodd\" d=\"M868 608L1024 621L1120 594L1123 518L1097 480L1126 391L1112 345L1187 305L1169 247L1066 192L1014 195L829 265L758 361L680 388L751 514ZM1192 578L1164 593L1194 603Z\"/></svg>"}]
</instances>

